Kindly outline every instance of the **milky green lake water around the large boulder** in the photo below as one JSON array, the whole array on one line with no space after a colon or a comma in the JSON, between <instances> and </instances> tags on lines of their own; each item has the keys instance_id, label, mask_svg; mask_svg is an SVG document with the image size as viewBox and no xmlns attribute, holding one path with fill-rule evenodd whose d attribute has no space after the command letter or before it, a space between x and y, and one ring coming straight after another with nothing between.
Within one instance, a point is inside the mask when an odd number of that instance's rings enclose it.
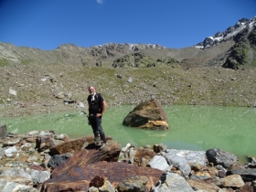
<instances>
[{"instance_id":1,"label":"milky green lake water around the large boulder","mask_svg":"<svg viewBox=\"0 0 256 192\"><path fill-rule=\"evenodd\" d=\"M113 107L103 116L106 135L120 144L166 144L168 148L208 150L220 148L240 157L256 156L256 109L215 106L163 106L168 119L168 131L147 131L123 126L124 117L134 106ZM58 112L19 118L0 119L9 133L27 133L34 130L54 130L70 138L92 134L85 115Z\"/></svg>"}]
</instances>

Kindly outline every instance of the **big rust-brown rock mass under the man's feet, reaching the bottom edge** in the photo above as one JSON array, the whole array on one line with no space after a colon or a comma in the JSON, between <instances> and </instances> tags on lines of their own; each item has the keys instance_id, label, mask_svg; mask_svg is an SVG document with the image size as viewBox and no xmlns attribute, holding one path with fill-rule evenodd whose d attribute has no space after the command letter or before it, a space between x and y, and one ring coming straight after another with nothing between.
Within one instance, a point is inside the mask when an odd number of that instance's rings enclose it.
<instances>
[{"instance_id":1,"label":"big rust-brown rock mass under the man's feet, reaching the bottom edge","mask_svg":"<svg viewBox=\"0 0 256 192\"><path fill-rule=\"evenodd\" d=\"M164 173L151 167L117 162L121 145L114 141L108 141L103 150L98 150L97 147L95 144L89 144L57 166L52 171L51 178L42 185L41 191L88 191L92 185L116 188L119 184L122 186L124 179L131 179L134 176L142 178L137 180L137 187L144 187L144 191L150 191ZM105 178L109 183L106 183Z\"/></svg>"}]
</instances>

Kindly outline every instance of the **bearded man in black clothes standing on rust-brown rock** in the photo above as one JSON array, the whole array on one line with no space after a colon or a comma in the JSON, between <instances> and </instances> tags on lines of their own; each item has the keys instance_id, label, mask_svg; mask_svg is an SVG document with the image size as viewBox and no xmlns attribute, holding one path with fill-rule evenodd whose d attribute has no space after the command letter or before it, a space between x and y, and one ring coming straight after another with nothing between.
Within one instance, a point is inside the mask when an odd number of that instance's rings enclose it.
<instances>
[{"instance_id":1,"label":"bearded man in black clothes standing on rust-brown rock","mask_svg":"<svg viewBox=\"0 0 256 192\"><path fill-rule=\"evenodd\" d=\"M100 144L99 134L101 136L102 144L100 150L102 150L106 146L106 138L101 126L101 117L106 110L107 104L101 96L101 93L96 92L93 86L90 86L88 91L90 92L87 98L89 105L89 121L91 122L91 128L94 133L95 144Z\"/></svg>"}]
</instances>

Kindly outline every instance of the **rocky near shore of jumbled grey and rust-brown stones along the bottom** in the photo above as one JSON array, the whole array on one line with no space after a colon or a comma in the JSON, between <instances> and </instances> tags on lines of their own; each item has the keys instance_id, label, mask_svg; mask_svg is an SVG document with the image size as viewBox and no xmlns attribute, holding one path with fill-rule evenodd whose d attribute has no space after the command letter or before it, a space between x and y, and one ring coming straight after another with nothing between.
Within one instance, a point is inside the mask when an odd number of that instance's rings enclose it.
<instances>
[{"instance_id":1,"label":"rocky near shore of jumbled grey and rust-brown stones along the bottom","mask_svg":"<svg viewBox=\"0 0 256 192\"><path fill-rule=\"evenodd\" d=\"M256 162L240 165L221 149L187 151L165 144L107 146L93 135L6 133L1 125L1 191L255 191Z\"/></svg>"}]
</instances>

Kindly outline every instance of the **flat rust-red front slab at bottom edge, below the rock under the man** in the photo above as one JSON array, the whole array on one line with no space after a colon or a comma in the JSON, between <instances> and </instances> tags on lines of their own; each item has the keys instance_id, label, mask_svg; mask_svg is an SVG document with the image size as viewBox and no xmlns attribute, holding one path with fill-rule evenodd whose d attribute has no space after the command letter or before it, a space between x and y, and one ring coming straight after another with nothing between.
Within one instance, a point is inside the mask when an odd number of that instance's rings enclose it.
<instances>
[{"instance_id":1,"label":"flat rust-red front slab at bottom edge, below the rock under the man","mask_svg":"<svg viewBox=\"0 0 256 192\"><path fill-rule=\"evenodd\" d=\"M88 191L91 180L95 176L105 176L112 184L112 187L115 188L125 178L146 176L145 191L149 192L150 188L155 187L163 173L163 171L155 168L119 162L103 161L82 166L73 165L61 175L55 175L51 179L48 179L43 184L41 192L66 191L68 189L69 191Z\"/></svg>"}]
</instances>

